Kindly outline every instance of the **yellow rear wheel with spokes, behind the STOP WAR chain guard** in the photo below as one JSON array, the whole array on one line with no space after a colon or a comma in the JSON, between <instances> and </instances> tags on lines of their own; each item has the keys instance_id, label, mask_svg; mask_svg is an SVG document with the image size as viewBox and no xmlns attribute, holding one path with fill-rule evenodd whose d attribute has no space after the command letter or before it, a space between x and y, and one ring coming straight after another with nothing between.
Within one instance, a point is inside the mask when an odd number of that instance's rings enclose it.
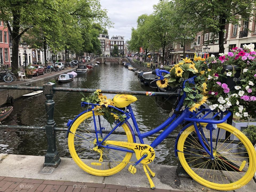
<instances>
[{"instance_id":1,"label":"yellow rear wheel with spokes, behind the STOP WAR chain guard","mask_svg":"<svg viewBox=\"0 0 256 192\"><path fill-rule=\"evenodd\" d=\"M74 121L68 137L70 154L77 165L87 173L97 176L113 175L121 171L129 163L132 153L97 146L96 135L102 141L107 133L114 128L115 124L110 125L103 118L103 115L99 113L95 113L95 123L97 131L101 127L103 134L95 133L92 111L82 114ZM131 131L126 123L117 127L115 131L118 131L118 134L111 134L106 141L134 142ZM105 145L105 142L103 142L103 145ZM97 151L97 149L99 150Z\"/></svg>"}]
</instances>

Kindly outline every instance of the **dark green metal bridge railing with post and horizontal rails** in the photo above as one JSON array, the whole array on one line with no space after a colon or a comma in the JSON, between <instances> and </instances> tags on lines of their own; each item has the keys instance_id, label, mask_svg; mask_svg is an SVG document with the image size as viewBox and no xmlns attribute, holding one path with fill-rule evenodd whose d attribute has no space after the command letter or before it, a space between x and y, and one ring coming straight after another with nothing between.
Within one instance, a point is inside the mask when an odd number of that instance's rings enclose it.
<instances>
[{"instance_id":1,"label":"dark green metal bridge railing with post and horizontal rails","mask_svg":"<svg viewBox=\"0 0 256 192\"><path fill-rule=\"evenodd\" d=\"M93 93L96 89L82 89L82 88L67 88L67 87L56 87L56 84L48 82L42 87L39 86L8 86L2 85L0 89L14 89L14 90L31 90L38 91L42 90L45 94L46 102L46 113L47 113L47 123L45 126L20 126L20 125L0 125L0 129L25 129L25 130L45 130L47 137L47 153L45 154L44 167L58 167L61 159L59 157L59 152L56 147L56 131L67 131L67 128L58 128L53 119L55 102L53 101L53 96L55 91L65 91L65 92L83 92L83 93ZM148 92L148 91L122 91L122 90L108 90L102 89L101 93L106 94L132 94L132 95L148 95L148 96L174 96L177 93L161 93L161 92ZM119 133L117 133L119 134ZM158 134L152 135L157 137ZM177 135L170 135L168 138L176 138Z\"/></svg>"}]
</instances>

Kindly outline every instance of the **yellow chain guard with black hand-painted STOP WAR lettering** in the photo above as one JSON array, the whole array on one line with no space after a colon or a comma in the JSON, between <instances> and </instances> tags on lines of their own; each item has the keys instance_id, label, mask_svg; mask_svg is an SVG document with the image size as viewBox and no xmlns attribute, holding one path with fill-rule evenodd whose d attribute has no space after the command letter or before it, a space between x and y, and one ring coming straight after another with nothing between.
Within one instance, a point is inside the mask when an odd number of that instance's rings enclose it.
<instances>
[{"instance_id":1,"label":"yellow chain guard with black hand-painted STOP WAR lettering","mask_svg":"<svg viewBox=\"0 0 256 192\"><path fill-rule=\"evenodd\" d=\"M146 144L141 143L131 143L131 142L125 142L125 141L106 141L107 145L115 145L119 147L124 147L127 149L132 149L136 155L137 160L142 164L149 164L151 163L155 158L155 151L153 147ZM147 155L144 159L141 160L141 157L143 155Z\"/></svg>"}]
</instances>

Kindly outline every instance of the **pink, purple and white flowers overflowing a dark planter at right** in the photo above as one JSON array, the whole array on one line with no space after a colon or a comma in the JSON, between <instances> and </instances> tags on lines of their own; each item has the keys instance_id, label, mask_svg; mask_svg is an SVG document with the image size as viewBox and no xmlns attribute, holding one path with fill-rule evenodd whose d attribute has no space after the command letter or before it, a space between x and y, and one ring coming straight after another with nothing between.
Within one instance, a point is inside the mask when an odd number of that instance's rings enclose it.
<instances>
[{"instance_id":1,"label":"pink, purple and white flowers overflowing a dark planter at right","mask_svg":"<svg viewBox=\"0 0 256 192\"><path fill-rule=\"evenodd\" d=\"M234 47L219 58L210 57L207 78L211 110L230 110L240 119L256 118L256 52L254 44Z\"/></svg>"}]
</instances>

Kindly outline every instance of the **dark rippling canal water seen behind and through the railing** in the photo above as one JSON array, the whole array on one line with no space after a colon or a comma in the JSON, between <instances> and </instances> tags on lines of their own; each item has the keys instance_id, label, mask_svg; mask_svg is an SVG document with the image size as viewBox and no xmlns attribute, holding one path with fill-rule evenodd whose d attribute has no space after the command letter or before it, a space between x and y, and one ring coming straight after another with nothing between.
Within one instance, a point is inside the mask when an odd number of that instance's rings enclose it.
<instances>
[{"instance_id":1,"label":"dark rippling canal water seen behind and through the railing","mask_svg":"<svg viewBox=\"0 0 256 192\"><path fill-rule=\"evenodd\" d=\"M105 63L95 66L93 70L87 71L85 75L79 75L72 82L58 84L58 87L81 87L91 89L115 89L134 91L155 91L146 87L138 79L133 71L118 65L117 63ZM85 95L89 95L86 93ZM114 94L108 94L113 98ZM169 102L154 97L136 96L138 100L132 103L135 117L141 132L152 130L169 117L172 105ZM54 95L55 112L54 120L57 127L66 127L68 119L73 119L84 108L81 107L80 93L57 92ZM21 98L14 102L14 110L10 117L2 122L3 125L34 125L44 126L46 124L45 96L35 95L29 98ZM173 132L178 133L178 130ZM0 130L0 153L20 155L45 155L47 149L47 138L45 131L40 130ZM146 139L149 144L153 137ZM137 140L138 141L138 140ZM165 139L156 151L153 161L163 165L177 165L174 154L175 139ZM61 157L71 157L68 149L66 132L57 132L57 148Z\"/></svg>"}]
</instances>

